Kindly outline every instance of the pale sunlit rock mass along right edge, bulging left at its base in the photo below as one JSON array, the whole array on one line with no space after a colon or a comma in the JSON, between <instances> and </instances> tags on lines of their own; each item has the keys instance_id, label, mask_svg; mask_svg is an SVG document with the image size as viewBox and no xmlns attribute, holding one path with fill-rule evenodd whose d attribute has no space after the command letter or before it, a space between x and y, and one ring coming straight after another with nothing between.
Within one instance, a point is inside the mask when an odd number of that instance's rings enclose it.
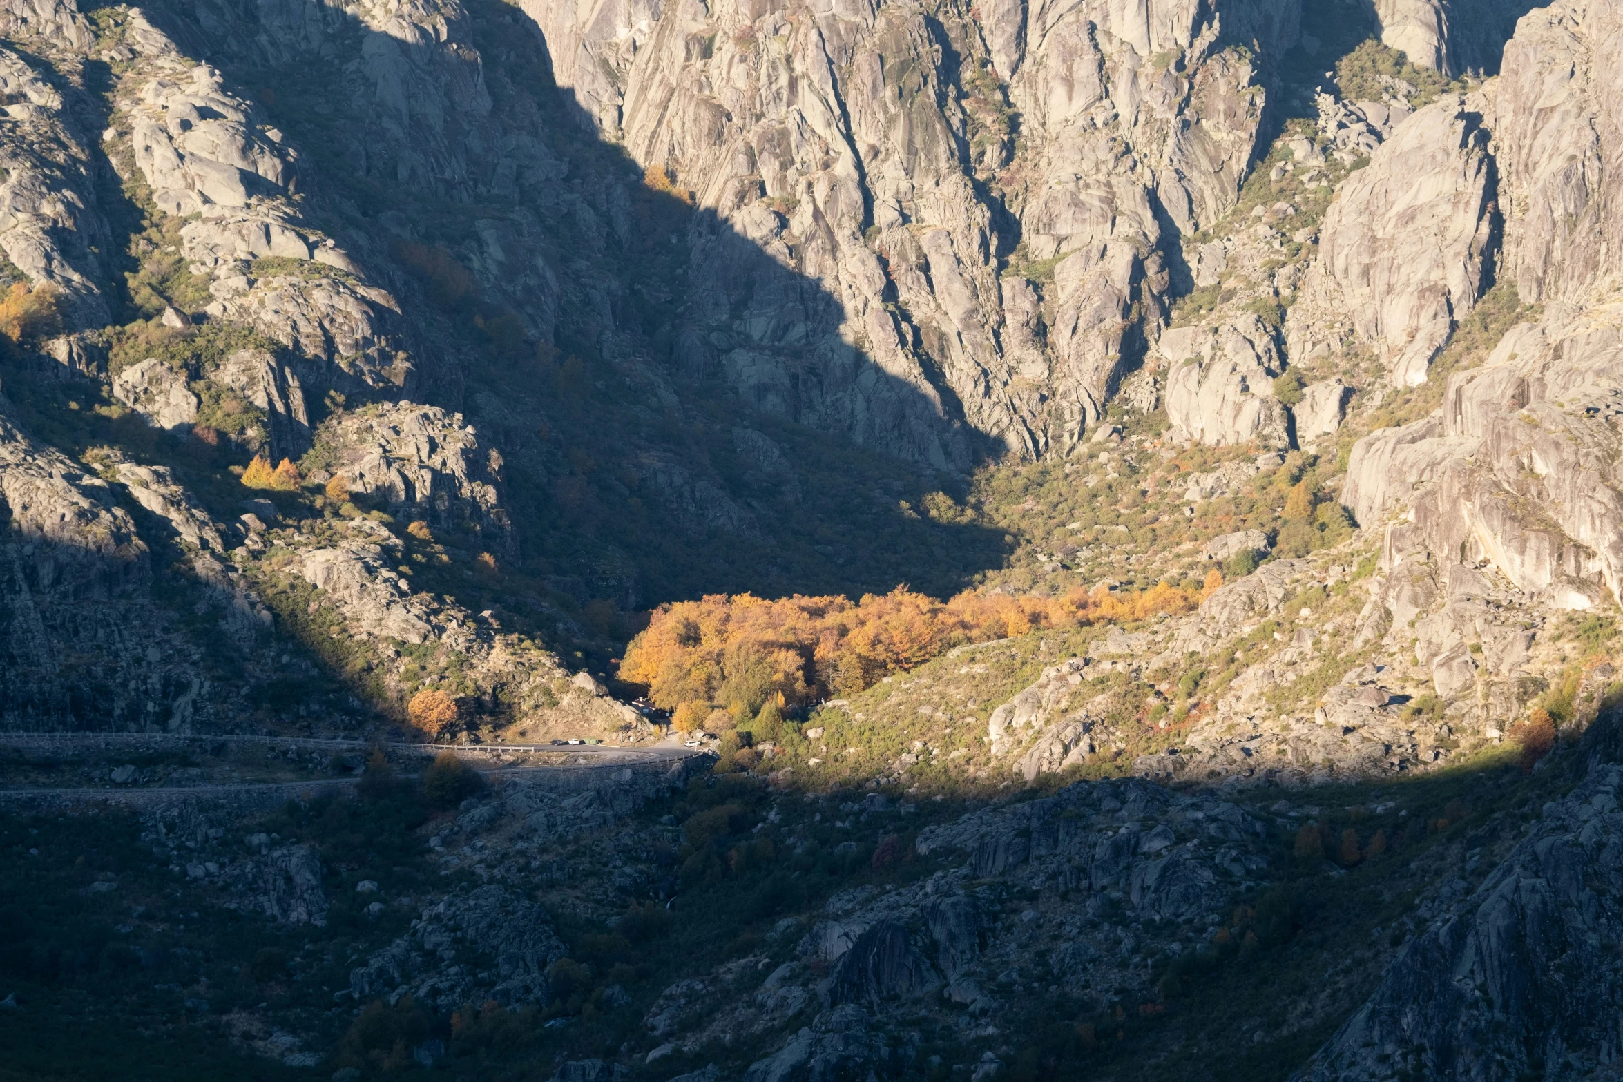
<instances>
[{"instance_id":1,"label":"pale sunlit rock mass along right edge, bulging left at its base","mask_svg":"<svg viewBox=\"0 0 1623 1082\"><path fill-rule=\"evenodd\" d=\"M1409 552L1490 561L1565 608L1623 589L1623 496L1599 466L1617 453L1612 417L1623 414L1623 352L1597 289L1617 266L1604 240L1615 225L1595 217L1573 232L1615 182L1599 162L1623 146L1599 120L1610 78L1600 73L1623 55L1613 6L1529 13L1506 47L1495 99L1506 264L1519 290L1547 302L1543 318L1506 333L1480 368L1453 375L1431 417L1360 440L1342 490L1367 526L1409 506L1409 521L1388 532L1388 566ZM1566 146L1565 162L1587 154L1595 169L1552 172L1553 148Z\"/></svg>"}]
</instances>

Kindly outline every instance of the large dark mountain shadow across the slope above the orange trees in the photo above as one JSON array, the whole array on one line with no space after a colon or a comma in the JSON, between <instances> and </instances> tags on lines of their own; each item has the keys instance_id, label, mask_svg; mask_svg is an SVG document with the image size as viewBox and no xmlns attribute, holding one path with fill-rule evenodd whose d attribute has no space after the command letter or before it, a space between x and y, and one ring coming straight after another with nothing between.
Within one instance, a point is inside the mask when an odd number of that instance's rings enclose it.
<instances>
[{"instance_id":1,"label":"large dark mountain shadow across the slope above the orange trees","mask_svg":"<svg viewBox=\"0 0 1623 1082\"><path fill-rule=\"evenodd\" d=\"M419 365L448 370L424 380L437 404L500 449L521 573L503 603L596 603L588 629L613 639L623 620L602 602L946 595L998 566L1001 532L962 496L966 469L1001 448L949 396L842 341L839 300L792 251L763 250L604 141L527 16L466 10L450 49L336 8L302 32L265 5L148 16L287 133L310 165L305 198L368 238L373 276L425 328L437 355ZM385 68L422 83L381 101ZM414 97L433 88L459 109ZM695 295L695 266L729 295ZM747 333L724 339L716 320Z\"/></svg>"}]
</instances>

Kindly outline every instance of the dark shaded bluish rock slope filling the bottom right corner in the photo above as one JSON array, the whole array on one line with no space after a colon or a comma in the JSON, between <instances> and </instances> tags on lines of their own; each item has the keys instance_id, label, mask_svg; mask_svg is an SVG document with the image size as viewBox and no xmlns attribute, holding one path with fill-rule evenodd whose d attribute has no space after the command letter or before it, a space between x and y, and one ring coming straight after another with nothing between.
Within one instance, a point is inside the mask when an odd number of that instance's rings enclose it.
<instances>
[{"instance_id":1,"label":"dark shaded bluish rock slope filling the bottom right corner","mask_svg":"<svg viewBox=\"0 0 1623 1082\"><path fill-rule=\"evenodd\" d=\"M1483 882L1441 905L1375 994L1294 1079L1498 1079L1560 1063L1602 1076L1623 934L1604 899L1618 876L1623 767L1594 762ZM1461 884L1464 886L1464 884Z\"/></svg>"}]
</instances>

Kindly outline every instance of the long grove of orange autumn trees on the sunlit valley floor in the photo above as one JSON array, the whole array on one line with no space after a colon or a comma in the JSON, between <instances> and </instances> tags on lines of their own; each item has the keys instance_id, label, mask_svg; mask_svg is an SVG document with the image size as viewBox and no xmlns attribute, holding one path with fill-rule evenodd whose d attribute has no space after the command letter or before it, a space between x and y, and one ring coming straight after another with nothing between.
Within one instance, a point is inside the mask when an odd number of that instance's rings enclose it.
<instances>
[{"instance_id":1,"label":"long grove of orange autumn trees on the sunlit valley floor","mask_svg":"<svg viewBox=\"0 0 1623 1082\"><path fill-rule=\"evenodd\" d=\"M1076 589L1065 597L966 590L946 602L906 586L857 602L712 594L659 607L626 647L620 678L644 685L656 706L683 720L708 720L712 704L742 720L774 696L805 706L855 694L954 646L1042 628L1126 623L1196 603L1199 590L1169 582L1146 590Z\"/></svg>"}]
</instances>

